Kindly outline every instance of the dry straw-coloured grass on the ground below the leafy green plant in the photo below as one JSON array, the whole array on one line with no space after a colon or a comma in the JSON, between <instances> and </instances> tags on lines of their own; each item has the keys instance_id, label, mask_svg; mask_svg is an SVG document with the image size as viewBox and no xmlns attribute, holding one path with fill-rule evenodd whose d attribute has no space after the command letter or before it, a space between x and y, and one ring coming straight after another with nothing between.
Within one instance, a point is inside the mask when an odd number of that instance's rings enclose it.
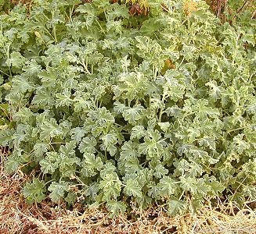
<instances>
[{"instance_id":1,"label":"dry straw-coloured grass on the ground below the leafy green plant","mask_svg":"<svg viewBox=\"0 0 256 234\"><path fill-rule=\"evenodd\" d=\"M3 158L0 158L3 159ZM6 176L0 167L0 233L66 234L66 233L256 233L256 211L219 204L204 207L195 214L170 218L163 207L147 211L133 210L135 218L120 215L110 219L106 211L91 207L68 211L63 204L28 206L21 195L27 181L21 172ZM218 210L218 211L217 211ZM236 214L235 213L236 210Z\"/></svg>"}]
</instances>

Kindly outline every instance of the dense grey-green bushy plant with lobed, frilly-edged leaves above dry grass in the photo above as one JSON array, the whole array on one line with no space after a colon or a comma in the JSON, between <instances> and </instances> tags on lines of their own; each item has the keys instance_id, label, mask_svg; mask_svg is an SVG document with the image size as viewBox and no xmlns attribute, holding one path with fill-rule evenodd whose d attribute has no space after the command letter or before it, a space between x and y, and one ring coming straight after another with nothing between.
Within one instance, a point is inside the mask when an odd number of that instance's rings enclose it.
<instances>
[{"instance_id":1,"label":"dense grey-green bushy plant with lobed, frilly-edged leaves above dry grass","mask_svg":"<svg viewBox=\"0 0 256 234\"><path fill-rule=\"evenodd\" d=\"M234 20L235 18L233 18ZM29 203L256 198L255 20L204 1L34 0L0 16L6 172ZM33 178L32 178L33 177Z\"/></svg>"}]
</instances>

